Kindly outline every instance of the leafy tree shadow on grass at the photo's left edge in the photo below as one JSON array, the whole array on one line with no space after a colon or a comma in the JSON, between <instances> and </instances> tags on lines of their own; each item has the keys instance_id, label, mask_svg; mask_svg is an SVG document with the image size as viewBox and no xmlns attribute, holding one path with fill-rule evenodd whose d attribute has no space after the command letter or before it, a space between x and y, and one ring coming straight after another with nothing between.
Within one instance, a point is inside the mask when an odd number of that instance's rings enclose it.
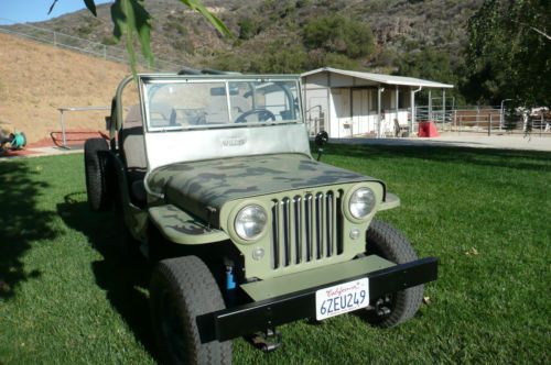
<instances>
[{"instance_id":1,"label":"leafy tree shadow on grass at the photo's left edge","mask_svg":"<svg viewBox=\"0 0 551 365\"><path fill-rule=\"evenodd\" d=\"M12 298L17 287L41 276L26 272L22 257L35 240L53 239L54 213L36 207L37 197L48 185L33 178L23 161L0 163L0 299Z\"/></svg>"}]
</instances>

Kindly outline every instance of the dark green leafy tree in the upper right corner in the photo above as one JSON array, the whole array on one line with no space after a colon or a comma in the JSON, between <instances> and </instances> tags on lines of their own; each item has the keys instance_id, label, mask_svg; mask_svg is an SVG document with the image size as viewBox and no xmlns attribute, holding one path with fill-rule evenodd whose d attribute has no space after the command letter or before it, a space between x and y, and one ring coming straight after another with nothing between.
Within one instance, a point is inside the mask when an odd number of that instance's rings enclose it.
<instances>
[{"instance_id":1,"label":"dark green leafy tree in the upper right corner","mask_svg":"<svg viewBox=\"0 0 551 365\"><path fill-rule=\"evenodd\" d=\"M465 93L494 104L551 106L549 19L549 0L486 0L468 24Z\"/></svg>"}]
</instances>

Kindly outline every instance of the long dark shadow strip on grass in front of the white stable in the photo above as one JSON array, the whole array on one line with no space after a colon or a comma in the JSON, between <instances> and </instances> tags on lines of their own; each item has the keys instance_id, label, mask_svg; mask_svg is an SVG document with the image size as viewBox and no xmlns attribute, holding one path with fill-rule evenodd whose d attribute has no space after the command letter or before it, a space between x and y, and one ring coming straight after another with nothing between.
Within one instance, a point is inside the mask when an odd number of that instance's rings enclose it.
<instances>
[{"instance_id":1,"label":"long dark shadow strip on grass in front of the white stable","mask_svg":"<svg viewBox=\"0 0 551 365\"><path fill-rule=\"evenodd\" d=\"M312 150L315 151L315 150ZM452 146L383 146L329 144L327 155L360 158L417 158L431 162L472 164L487 167L506 167L519 170L551 172L551 153ZM322 157L323 161L323 157Z\"/></svg>"}]
</instances>

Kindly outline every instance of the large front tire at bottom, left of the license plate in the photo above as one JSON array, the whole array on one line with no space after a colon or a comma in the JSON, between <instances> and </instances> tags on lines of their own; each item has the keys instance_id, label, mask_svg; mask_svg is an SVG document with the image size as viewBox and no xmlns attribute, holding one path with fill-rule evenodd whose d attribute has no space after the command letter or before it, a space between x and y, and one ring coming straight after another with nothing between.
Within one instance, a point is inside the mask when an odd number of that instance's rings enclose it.
<instances>
[{"instance_id":1,"label":"large front tire at bottom, left of the license plate","mask_svg":"<svg viewBox=\"0 0 551 365\"><path fill-rule=\"evenodd\" d=\"M153 329L166 364L231 364L231 342L201 343L196 318L224 309L206 265L196 256L161 261L151 279Z\"/></svg>"}]
</instances>

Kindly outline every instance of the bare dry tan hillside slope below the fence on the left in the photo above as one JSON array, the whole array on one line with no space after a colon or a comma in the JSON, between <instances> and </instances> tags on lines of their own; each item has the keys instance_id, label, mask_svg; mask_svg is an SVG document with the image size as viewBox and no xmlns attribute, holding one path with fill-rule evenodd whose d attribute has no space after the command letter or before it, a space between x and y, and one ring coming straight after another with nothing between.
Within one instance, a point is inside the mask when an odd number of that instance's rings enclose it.
<instances>
[{"instance_id":1,"label":"bare dry tan hillside slope below the fence on the left","mask_svg":"<svg viewBox=\"0 0 551 365\"><path fill-rule=\"evenodd\" d=\"M60 131L60 107L110 106L122 64L0 33L0 128L30 142ZM67 128L105 128L105 112L67 115Z\"/></svg>"}]
</instances>

